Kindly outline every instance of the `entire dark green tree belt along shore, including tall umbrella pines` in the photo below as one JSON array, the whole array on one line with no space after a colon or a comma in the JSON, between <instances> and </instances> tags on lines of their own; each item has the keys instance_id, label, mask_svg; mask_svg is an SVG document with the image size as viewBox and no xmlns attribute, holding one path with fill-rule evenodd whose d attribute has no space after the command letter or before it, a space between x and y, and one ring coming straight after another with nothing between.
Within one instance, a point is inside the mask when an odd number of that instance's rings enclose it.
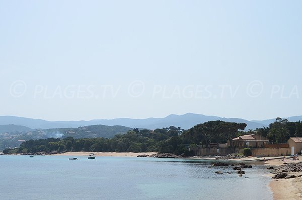
<instances>
[{"instance_id":1,"label":"entire dark green tree belt along shore, including tall umbrella pines","mask_svg":"<svg viewBox=\"0 0 302 200\"><path fill-rule=\"evenodd\" d=\"M189 146L208 145L210 143L232 142L232 138L242 134L245 123L209 121L198 124L189 130L170 126L153 131L137 128L126 134L117 134L113 138L48 138L28 140L19 148L5 149L4 153L36 153L36 152L160 152L176 155L190 155Z\"/></svg>"}]
</instances>

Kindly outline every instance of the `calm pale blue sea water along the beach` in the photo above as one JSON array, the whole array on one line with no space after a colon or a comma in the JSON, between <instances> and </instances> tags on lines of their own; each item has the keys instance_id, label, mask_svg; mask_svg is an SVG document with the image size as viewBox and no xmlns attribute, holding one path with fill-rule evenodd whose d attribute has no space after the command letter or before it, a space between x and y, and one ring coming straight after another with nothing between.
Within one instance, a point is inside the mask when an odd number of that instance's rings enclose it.
<instances>
[{"instance_id":1,"label":"calm pale blue sea water along the beach","mask_svg":"<svg viewBox=\"0 0 302 200\"><path fill-rule=\"evenodd\" d=\"M68 158L0 156L0 199L272 199L261 165L238 177L205 160Z\"/></svg>"}]
</instances>

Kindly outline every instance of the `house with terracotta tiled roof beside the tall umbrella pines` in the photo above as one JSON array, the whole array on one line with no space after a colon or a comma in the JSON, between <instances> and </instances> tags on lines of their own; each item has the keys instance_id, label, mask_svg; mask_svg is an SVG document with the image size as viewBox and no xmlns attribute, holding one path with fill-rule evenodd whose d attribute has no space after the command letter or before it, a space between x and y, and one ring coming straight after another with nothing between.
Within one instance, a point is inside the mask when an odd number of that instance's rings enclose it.
<instances>
[{"instance_id":1,"label":"house with terracotta tiled roof beside the tall umbrella pines","mask_svg":"<svg viewBox=\"0 0 302 200\"><path fill-rule=\"evenodd\" d=\"M262 148L268 143L268 139L259 134L248 134L232 139L233 147L237 148Z\"/></svg>"}]
</instances>

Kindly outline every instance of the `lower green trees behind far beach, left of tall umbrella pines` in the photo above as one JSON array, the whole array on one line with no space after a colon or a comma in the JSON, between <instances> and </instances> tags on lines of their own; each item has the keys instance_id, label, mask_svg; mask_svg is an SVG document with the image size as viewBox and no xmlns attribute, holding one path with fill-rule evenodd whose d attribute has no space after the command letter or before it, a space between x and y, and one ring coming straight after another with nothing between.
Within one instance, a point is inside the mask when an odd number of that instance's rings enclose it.
<instances>
[{"instance_id":1,"label":"lower green trees behind far beach, left of tall umbrella pines","mask_svg":"<svg viewBox=\"0 0 302 200\"><path fill-rule=\"evenodd\" d=\"M4 153L36 153L36 152L65 152L65 151L93 151L93 152L169 152L182 154L186 152L182 140L183 130L171 126L155 129L154 131L133 129L126 134L117 134L113 138L79 138L64 139L48 138L28 140L19 148L5 149Z\"/></svg>"}]
</instances>

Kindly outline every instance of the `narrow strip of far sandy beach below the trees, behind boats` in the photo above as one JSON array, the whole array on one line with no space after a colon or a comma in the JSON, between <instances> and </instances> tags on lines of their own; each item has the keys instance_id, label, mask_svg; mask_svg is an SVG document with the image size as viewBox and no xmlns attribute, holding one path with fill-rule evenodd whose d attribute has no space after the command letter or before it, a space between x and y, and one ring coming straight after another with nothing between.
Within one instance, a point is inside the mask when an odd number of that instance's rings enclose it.
<instances>
[{"instance_id":1,"label":"narrow strip of far sandy beach below the trees, behind boats","mask_svg":"<svg viewBox=\"0 0 302 200\"><path fill-rule=\"evenodd\" d=\"M117 156L117 157L137 157L138 155L152 155L157 154L157 152L66 152L62 154L52 154L51 156L88 156L90 153L95 154L95 156Z\"/></svg>"}]
</instances>

